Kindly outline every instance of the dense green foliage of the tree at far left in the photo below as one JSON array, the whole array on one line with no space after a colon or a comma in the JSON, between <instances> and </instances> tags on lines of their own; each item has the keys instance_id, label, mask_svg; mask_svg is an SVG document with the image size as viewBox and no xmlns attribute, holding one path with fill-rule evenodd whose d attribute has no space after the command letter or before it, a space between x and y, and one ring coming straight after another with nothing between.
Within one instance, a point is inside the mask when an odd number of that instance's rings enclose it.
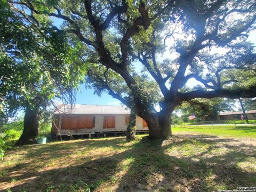
<instances>
[{"instance_id":1,"label":"dense green foliage of the tree at far left","mask_svg":"<svg viewBox=\"0 0 256 192\"><path fill-rule=\"evenodd\" d=\"M47 26L39 31L35 21L10 4L3 2L0 9L2 110L10 115L28 103L65 97L83 81L78 71L84 66L76 62L77 49L67 45L65 34Z\"/></svg>"}]
</instances>

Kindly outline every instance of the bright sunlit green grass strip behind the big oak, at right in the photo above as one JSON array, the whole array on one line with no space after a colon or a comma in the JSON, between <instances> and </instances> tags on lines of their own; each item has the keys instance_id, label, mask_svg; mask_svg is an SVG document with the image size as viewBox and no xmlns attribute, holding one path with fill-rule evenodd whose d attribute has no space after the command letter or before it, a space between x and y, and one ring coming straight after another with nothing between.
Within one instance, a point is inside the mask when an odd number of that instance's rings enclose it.
<instances>
[{"instance_id":1,"label":"bright sunlit green grass strip behind the big oak, at right","mask_svg":"<svg viewBox=\"0 0 256 192\"><path fill-rule=\"evenodd\" d=\"M173 133L177 132L190 132L190 133L203 133L213 134L223 137L244 137L244 138L256 138L256 125L182 125L172 126Z\"/></svg>"}]
</instances>

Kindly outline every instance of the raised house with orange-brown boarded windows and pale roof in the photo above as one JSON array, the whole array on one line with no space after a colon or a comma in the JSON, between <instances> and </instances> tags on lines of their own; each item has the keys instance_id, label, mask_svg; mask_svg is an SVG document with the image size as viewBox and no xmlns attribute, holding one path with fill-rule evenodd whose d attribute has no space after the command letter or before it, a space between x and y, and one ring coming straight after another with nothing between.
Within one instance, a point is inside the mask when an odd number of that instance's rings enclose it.
<instances>
[{"instance_id":1,"label":"raised house with orange-brown boarded windows and pale roof","mask_svg":"<svg viewBox=\"0 0 256 192\"><path fill-rule=\"evenodd\" d=\"M130 109L123 106L75 105L70 110L66 105L54 112L55 121L51 133L57 135L125 134L130 120ZM147 132L147 123L136 117L137 132Z\"/></svg>"}]
</instances>

